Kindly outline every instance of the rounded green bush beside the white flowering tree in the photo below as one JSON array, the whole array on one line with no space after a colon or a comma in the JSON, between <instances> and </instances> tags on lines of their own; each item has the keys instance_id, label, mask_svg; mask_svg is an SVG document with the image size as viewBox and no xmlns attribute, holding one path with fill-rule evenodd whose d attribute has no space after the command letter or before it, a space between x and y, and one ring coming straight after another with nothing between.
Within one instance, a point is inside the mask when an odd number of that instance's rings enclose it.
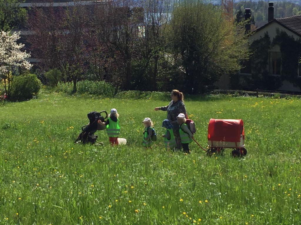
<instances>
[{"instance_id":1,"label":"rounded green bush beside the white flowering tree","mask_svg":"<svg viewBox=\"0 0 301 225\"><path fill-rule=\"evenodd\" d=\"M31 99L39 93L41 86L42 83L36 74L16 76L12 85L11 98L15 101Z\"/></svg>"}]
</instances>

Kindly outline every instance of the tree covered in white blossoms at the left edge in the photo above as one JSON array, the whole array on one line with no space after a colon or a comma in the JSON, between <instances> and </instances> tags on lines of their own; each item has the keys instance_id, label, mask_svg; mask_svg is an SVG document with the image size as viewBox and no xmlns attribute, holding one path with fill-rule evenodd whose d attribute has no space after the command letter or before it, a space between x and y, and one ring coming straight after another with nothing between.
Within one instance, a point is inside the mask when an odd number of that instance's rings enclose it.
<instances>
[{"instance_id":1,"label":"tree covered in white blossoms at the left edge","mask_svg":"<svg viewBox=\"0 0 301 225\"><path fill-rule=\"evenodd\" d=\"M23 44L17 44L20 32L0 33L0 79L3 82L7 97L10 97L14 75L19 68L29 70L32 65L26 61L30 54L22 51Z\"/></svg>"}]
</instances>

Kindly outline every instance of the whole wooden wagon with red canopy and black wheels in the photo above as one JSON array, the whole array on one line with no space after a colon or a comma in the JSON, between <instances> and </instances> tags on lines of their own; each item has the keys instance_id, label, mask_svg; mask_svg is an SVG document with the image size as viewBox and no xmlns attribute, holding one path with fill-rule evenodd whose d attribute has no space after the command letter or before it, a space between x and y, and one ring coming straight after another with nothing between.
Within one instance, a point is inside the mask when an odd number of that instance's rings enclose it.
<instances>
[{"instance_id":1,"label":"whole wooden wagon with red canopy and black wheels","mask_svg":"<svg viewBox=\"0 0 301 225\"><path fill-rule=\"evenodd\" d=\"M247 155L244 147L244 122L241 119L210 119L208 125L207 154L223 153L234 149L232 156Z\"/></svg>"}]
</instances>

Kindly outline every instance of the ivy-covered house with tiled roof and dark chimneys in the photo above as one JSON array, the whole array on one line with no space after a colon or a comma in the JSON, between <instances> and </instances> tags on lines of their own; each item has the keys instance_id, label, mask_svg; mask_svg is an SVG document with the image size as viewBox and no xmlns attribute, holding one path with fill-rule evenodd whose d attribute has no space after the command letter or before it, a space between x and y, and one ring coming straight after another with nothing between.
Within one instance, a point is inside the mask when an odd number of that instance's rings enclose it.
<instances>
[{"instance_id":1,"label":"ivy-covered house with tiled roof and dark chimneys","mask_svg":"<svg viewBox=\"0 0 301 225\"><path fill-rule=\"evenodd\" d=\"M251 10L246 9L245 18ZM250 26L246 26L250 34ZM268 23L249 36L252 57L242 62L239 74L222 76L217 84L226 89L301 91L301 15L274 18L269 2Z\"/></svg>"}]
</instances>

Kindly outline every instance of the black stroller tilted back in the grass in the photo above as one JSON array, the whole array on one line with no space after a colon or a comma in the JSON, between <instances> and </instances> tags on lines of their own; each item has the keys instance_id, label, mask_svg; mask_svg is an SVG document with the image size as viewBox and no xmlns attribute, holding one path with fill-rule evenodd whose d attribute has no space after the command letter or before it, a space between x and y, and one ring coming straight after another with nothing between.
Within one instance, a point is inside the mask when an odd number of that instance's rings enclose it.
<instances>
[{"instance_id":1,"label":"black stroller tilted back in the grass","mask_svg":"<svg viewBox=\"0 0 301 225\"><path fill-rule=\"evenodd\" d=\"M105 113L106 116L101 116L102 113ZM82 133L79 134L74 143L78 143L78 141L81 141L81 143L83 144L94 144L96 142L96 139L98 138L98 136L94 133L97 130L106 129L106 125L99 124L97 121L100 120L101 122L106 122L108 119L108 113L106 111L101 111L99 113L93 111L88 113L88 119L89 124L82 127Z\"/></svg>"}]
</instances>

